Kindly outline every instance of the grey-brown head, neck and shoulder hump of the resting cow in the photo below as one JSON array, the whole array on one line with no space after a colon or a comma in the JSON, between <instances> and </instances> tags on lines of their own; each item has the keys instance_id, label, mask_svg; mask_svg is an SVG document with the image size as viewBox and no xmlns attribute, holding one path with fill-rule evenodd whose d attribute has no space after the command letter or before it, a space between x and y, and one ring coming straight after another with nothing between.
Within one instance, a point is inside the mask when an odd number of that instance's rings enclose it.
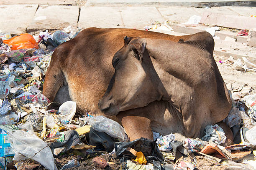
<instances>
[{"instance_id":1,"label":"grey-brown head, neck and shoulder hump of the resting cow","mask_svg":"<svg viewBox=\"0 0 256 170\"><path fill-rule=\"evenodd\" d=\"M206 125L227 117L231 100L213 58L214 40L209 33L184 42L127 40L113 57L115 73L100 99L102 112L117 115L148 106L157 112L148 114L143 109L141 115L151 120L153 129L193 138L202 137ZM157 106L149 104L156 101Z\"/></svg>"}]
</instances>

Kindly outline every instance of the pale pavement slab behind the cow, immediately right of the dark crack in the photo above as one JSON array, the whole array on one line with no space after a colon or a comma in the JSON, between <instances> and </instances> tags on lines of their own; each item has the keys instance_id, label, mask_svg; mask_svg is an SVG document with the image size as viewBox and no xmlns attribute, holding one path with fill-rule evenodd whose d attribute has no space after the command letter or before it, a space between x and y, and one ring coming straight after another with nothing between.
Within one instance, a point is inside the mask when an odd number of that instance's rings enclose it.
<instances>
[{"instance_id":1,"label":"pale pavement slab behind the cow, immediately right of the dark crack","mask_svg":"<svg viewBox=\"0 0 256 170\"><path fill-rule=\"evenodd\" d=\"M124 28L124 25L118 7L81 7L78 27Z\"/></svg>"}]
</instances>

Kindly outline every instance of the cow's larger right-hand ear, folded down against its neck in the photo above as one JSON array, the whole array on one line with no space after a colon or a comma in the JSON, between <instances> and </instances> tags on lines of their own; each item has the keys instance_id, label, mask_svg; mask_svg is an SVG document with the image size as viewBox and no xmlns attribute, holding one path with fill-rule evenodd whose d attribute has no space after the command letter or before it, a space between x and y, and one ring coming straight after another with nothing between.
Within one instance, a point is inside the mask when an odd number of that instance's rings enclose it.
<instances>
[{"instance_id":1,"label":"cow's larger right-hand ear, folded down against its neck","mask_svg":"<svg viewBox=\"0 0 256 170\"><path fill-rule=\"evenodd\" d=\"M143 53L146 49L146 40L140 40L139 42L130 43L131 50L133 50L133 55L141 62L143 61Z\"/></svg>"}]
</instances>

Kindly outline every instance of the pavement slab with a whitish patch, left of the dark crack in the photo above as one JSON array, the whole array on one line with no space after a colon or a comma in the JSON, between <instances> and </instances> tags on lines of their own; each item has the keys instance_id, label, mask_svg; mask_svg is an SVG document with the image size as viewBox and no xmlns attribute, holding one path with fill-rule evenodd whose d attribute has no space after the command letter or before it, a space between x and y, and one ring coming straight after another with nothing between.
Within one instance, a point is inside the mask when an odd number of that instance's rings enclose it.
<instances>
[{"instance_id":1,"label":"pavement slab with a whitish patch, left of the dark crack","mask_svg":"<svg viewBox=\"0 0 256 170\"><path fill-rule=\"evenodd\" d=\"M56 30L69 25L77 27L79 15L78 6L39 6L27 32L38 30Z\"/></svg>"}]
</instances>

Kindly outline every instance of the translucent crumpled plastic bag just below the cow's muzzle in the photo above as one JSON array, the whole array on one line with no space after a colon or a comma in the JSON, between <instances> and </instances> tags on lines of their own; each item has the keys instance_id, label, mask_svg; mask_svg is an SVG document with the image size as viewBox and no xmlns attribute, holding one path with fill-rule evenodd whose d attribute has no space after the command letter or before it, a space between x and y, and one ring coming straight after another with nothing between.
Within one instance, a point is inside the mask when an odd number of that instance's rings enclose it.
<instances>
[{"instance_id":1,"label":"translucent crumpled plastic bag just below the cow's muzzle","mask_svg":"<svg viewBox=\"0 0 256 170\"><path fill-rule=\"evenodd\" d=\"M119 125L118 122L115 122L105 116L96 116L81 120L89 121L89 125L98 132L105 132L113 138L118 138L122 142L128 140L128 136L125 134L124 128Z\"/></svg>"}]
</instances>

